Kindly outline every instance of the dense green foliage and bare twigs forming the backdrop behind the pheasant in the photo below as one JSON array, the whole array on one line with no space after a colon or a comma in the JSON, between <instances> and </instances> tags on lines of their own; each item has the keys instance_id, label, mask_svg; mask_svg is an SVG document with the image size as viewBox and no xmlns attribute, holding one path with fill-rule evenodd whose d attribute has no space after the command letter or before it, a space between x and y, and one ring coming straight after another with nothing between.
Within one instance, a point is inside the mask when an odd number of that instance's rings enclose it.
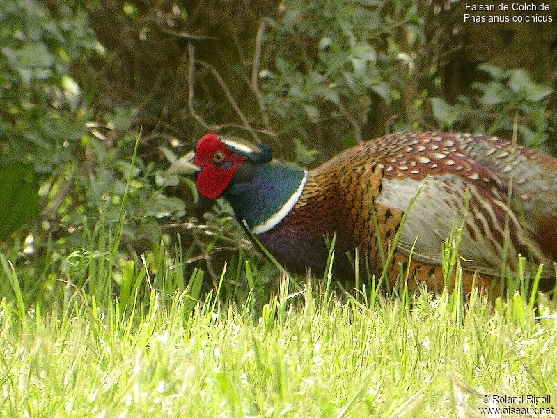
<instances>
[{"instance_id":1,"label":"dense green foliage and bare twigs forming the backdrop behind the pheasant","mask_svg":"<svg viewBox=\"0 0 557 418\"><path fill-rule=\"evenodd\" d=\"M510 138L516 123L519 141L554 150L555 29L536 26L549 38L516 68L496 51L473 55L461 12L409 0L1 1L3 251L44 290L74 257L102 258L115 242L125 277L126 263L146 265L143 252L186 231L187 263L218 281L210 256L249 242L226 205L194 203L191 183L164 174L207 130L304 165L407 129Z\"/></svg>"}]
</instances>

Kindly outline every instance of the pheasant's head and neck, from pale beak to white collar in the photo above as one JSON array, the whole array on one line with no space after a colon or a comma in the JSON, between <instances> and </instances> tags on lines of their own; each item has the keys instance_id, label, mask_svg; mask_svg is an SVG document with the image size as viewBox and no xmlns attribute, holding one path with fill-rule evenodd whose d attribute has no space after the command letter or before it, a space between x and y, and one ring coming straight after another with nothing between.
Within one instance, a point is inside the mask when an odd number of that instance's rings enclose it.
<instances>
[{"instance_id":1,"label":"pheasant's head and neck, from pale beak to white collar","mask_svg":"<svg viewBox=\"0 0 557 418\"><path fill-rule=\"evenodd\" d=\"M304 188L307 171L272 159L271 148L210 133L168 173L196 175L201 195L223 196L253 233L272 229L288 215Z\"/></svg>"}]
</instances>

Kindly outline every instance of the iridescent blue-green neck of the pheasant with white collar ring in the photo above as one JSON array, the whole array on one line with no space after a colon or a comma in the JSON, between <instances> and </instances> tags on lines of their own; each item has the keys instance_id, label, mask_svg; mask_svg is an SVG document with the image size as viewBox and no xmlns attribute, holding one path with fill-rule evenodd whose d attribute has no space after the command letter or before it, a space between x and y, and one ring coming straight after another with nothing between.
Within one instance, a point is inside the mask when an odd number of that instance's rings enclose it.
<instances>
[{"instance_id":1,"label":"iridescent blue-green neck of the pheasant with white collar ring","mask_svg":"<svg viewBox=\"0 0 557 418\"><path fill-rule=\"evenodd\" d=\"M246 220L254 234L263 233L281 222L297 203L308 172L280 162L253 164L253 176L233 182L224 197L237 219Z\"/></svg>"}]
</instances>

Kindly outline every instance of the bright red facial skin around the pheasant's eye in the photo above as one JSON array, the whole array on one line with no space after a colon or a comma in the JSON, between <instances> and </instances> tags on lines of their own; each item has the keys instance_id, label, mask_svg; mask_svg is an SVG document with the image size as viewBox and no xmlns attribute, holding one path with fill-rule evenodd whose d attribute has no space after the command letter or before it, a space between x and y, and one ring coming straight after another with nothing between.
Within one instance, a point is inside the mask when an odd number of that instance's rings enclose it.
<instances>
[{"instance_id":1,"label":"bright red facial skin around the pheasant's eye","mask_svg":"<svg viewBox=\"0 0 557 418\"><path fill-rule=\"evenodd\" d=\"M217 152L224 154L221 162L214 162L213 157ZM209 199L218 199L230 184L236 167L247 158L236 155L224 146L217 134L206 134L196 146L194 164L201 167L197 176L199 193Z\"/></svg>"}]
</instances>

